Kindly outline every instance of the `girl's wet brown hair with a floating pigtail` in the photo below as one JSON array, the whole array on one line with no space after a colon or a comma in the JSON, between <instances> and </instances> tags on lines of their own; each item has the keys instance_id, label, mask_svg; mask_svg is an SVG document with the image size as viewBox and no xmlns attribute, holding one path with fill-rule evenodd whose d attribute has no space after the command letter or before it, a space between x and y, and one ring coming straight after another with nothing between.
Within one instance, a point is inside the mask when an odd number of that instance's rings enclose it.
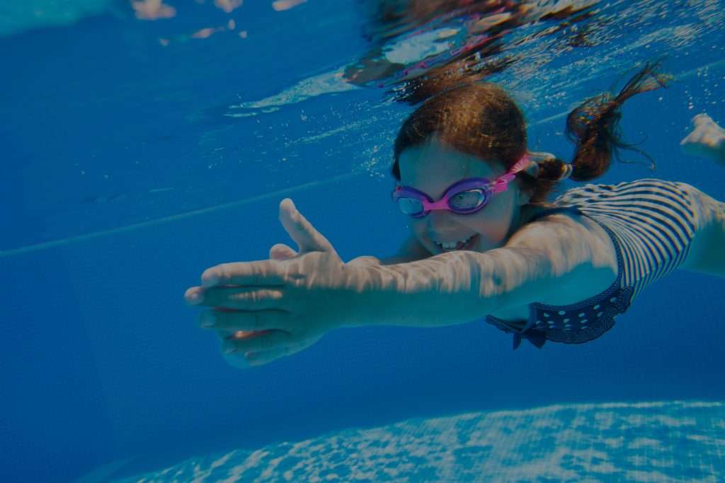
<instances>
[{"instance_id":1,"label":"girl's wet brown hair with a floating pigtail","mask_svg":"<svg viewBox=\"0 0 725 483\"><path fill-rule=\"evenodd\" d=\"M666 87L671 77L657 72L659 62L647 62L621 91L588 98L566 119L566 135L576 145L571 179L588 181L603 175L621 149L637 147L621 140L620 107L632 96ZM436 136L443 143L481 159L499 161L510 169L526 154L526 122L521 109L499 86L468 83L429 98L403 122L394 144L392 175L400 180L399 157L406 148ZM649 158L649 156L647 156ZM651 161L651 159L650 159ZM521 187L532 193L530 203L545 203L568 171L561 159L539 162L537 177L517 175Z\"/></svg>"}]
</instances>

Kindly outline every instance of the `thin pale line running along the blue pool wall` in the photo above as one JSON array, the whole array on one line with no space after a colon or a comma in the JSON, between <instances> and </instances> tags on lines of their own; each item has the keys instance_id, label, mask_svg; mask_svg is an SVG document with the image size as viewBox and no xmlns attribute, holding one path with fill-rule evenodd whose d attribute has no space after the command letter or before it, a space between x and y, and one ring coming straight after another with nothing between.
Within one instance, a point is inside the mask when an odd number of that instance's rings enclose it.
<instances>
[{"instance_id":1,"label":"thin pale line running along the blue pool wall","mask_svg":"<svg viewBox=\"0 0 725 483\"><path fill-rule=\"evenodd\" d=\"M719 67L723 67L724 65L725 65L725 60L718 60L716 62L711 62L710 64L706 64L706 65L703 65L700 67L695 67L694 69L687 70L686 72L682 72L681 74L676 76L676 80L689 79L689 77L697 75L697 73L702 70L719 68ZM553 116L545 117L544 119L539 119L538 121L531 122L531 123L529 123L528 126L531 127L531 126L536 126L536 125L542 125L547 122L555 121L557 119L562 119L563 117L568 116L568 114L569 114L568 112L561 112L560 114L555 114ZM303 185L297 185L297 186L293 186L291 188L285 188L283 190L276 190L271 193L265 193L263 195L252 196L252 198L244 198L243 200L231 201L229 203L222 203L222 204L215 205L215 206L209 206L207 208L186 211L185 213L174 214L174 215L170 215L168 217L152 219L152 220L149 220L148 222L128 224L123 227L116 227L116 228L111 228L109 230L101 230L99 232L86 233L85 235L78 235L78 236L68 237L68 238L60 238L58 240L51 240L49 242L34 243L33 245L25 245L25 246L21 246L18 248L9 248L8 250L0 250L0 259L8 258L11 256L24 255L26 253L33 253L36 251L47 250L49 248L57 248L57 247L65 246L65 245L71 245L73 243L80 243L80 242L84 242L87 240L93 240L94 238L102 238L102 237L106 237L106 236L110 236L110 235L117 235L119 233L130 232L133 230L141 230L142 228L153 227L153 226L157 226L159 224L175 222L175 221L178 221L181 219L196 217L198 215L212 213L212 212L220 211L223 209L236 208L237 206L243 206L248 203L254 203L257 201L262 201L262 200L265 200L268 198L272 198L273 196L281 196L281 195L285 195L287 193L294 193L299 190L307 190L307 189L315 188L318 186L328 185L332 182L347 180L347 179L350 179L353 177L362 176L365 173L367 173L367 172L349 173L347 175L333 177L328 180L308 182Z\"/></svg>"}]
</instances>

